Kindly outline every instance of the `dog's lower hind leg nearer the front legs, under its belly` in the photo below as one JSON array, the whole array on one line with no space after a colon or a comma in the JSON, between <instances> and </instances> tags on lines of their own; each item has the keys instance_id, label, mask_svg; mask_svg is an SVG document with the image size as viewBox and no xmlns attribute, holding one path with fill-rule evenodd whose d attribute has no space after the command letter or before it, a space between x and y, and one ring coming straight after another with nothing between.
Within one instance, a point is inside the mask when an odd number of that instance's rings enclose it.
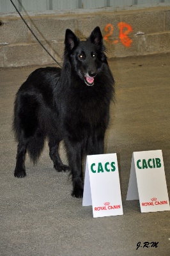
<instances>
[{"instance_id":1,"label":"dog's lower hind leg nearer the front legs, under its belly","mask_svg":"<svg viewBox=\"0 0 170 256\"><path fill-rule=\"evenodd\" d=\"M68 172L69 166L62 163L61 158L59 157L59 140L49 140L49 150L50 150L50 159L54 163L54 168L58 172Z\"/></svg>"}]
</instances>

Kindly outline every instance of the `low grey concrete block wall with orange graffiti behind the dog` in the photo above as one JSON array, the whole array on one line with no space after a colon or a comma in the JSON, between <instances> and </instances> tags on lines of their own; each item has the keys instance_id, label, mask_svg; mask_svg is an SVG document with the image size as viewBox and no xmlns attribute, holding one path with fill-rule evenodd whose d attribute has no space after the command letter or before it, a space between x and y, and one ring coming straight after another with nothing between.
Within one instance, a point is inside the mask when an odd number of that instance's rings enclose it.
<instances>
[{"instance_id":1,"label":"low grey concrete block wall with orange graffiti behind the dog","mask_svg":"<svg viewBox=\"0 0 170 256\"><path fill-rule=\"evenodd\" d=\"M170 52L170 6L28 15L24 15L27 24L59 62L62 61L66 28L84 39L95 26L100 26L108 58ZM54 63L19 15L1 13L0 22L0 67Z\"/></svg>"}]
</instances>

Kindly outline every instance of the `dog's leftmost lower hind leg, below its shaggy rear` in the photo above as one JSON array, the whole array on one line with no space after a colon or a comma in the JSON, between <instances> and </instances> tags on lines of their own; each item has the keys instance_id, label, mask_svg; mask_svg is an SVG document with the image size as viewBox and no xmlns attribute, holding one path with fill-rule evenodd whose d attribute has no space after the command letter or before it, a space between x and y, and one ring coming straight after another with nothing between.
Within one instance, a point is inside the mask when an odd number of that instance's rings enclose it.
<instances>
[{"instance_id":1,"label":"dog's leftmost lower hind leg, below its shaggy rear","mask_svg":"<svg viewBox=\"0 0 170 256\"><path fill-rule=\"evenodd\" d=\"M24 140L20 140L17 147L17 162L15 166L14 176L17 178L23 178L26 176L25 157L26 157L27 143Z\"/></svg>"}]
</instances>

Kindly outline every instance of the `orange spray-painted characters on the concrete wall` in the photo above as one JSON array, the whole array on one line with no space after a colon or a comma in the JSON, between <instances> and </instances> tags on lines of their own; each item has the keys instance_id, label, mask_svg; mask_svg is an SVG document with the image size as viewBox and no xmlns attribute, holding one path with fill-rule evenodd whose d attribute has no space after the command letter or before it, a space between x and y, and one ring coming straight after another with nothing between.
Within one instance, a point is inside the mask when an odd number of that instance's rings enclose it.
<instances>
[{"instance_id":1,"label":"orange spray-painted characters on the concrete wall","mask_svg":"<svg viewBox=\"0 0 170 256\"><path fill-rule=\"evenodd\" d=\"M119 22L118 28L120 29L120 35L119 35L120 42L126 47L130 47L133 40L128 37L128 34L132 32L132 27L126 22ZM113 31L114 31L114 26L112 26L111 23L107 24L105 26L105 32L107 32L107 34L104 36L104 40L109 42L110 44L118 44L119 40L111 40L109 38L109 36L112 35Z\"/></svg>"}]
</instances>

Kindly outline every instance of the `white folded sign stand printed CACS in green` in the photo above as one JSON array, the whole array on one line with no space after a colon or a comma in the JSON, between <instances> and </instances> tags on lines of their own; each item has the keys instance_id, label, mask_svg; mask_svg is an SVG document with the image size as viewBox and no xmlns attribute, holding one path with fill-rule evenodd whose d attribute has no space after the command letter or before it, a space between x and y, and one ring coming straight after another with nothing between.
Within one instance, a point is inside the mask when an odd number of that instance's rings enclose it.
<instances>
[{"instance_id":1,"label":"white folded sign stand printed CACS in green","mask_svg":"<svg viewBox=\"0 0 170 256\"><path fill-rule=\"evenodd\" d=\"M87 156L82 205L94 218L123 214L116 154Z\"/></svg>"}]
</instances>

